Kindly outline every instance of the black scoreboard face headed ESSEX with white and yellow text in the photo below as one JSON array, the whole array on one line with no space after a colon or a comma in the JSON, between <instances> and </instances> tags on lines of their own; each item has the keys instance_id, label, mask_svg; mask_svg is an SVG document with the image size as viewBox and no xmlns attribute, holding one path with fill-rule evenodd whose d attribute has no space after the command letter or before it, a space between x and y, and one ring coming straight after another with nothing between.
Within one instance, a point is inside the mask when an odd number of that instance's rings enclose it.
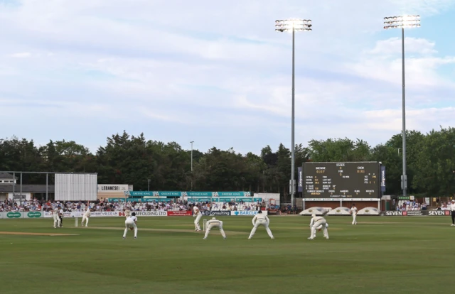
<instances>
[{"instance_id":1,"label":"black scoreboard face headed ESSEX with white and yellow text","mask_svg":"<svg viewBox=\"0 0 455 294\"><path fill-rule=\"evenodd\" d=\"M377 198L380 164L377 162L305 163L305 198Z\"/></svg>"}]
</instances>

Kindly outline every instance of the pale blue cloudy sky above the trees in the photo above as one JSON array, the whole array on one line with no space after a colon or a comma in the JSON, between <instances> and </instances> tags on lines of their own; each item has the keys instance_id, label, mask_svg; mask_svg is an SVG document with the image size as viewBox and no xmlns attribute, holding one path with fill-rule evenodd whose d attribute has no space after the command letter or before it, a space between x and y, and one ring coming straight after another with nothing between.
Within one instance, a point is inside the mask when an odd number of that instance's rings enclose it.
<instances>
[{"instance_id":1,"label":"pale blue cloudy sky above the trees","mask_svg":"<svg viewBox=\"0 0 455 294\"><path fill-rule=\"evenodd\" d=\"M407 127L455 126L453 0L0 0L0 138L74 140L96 151L122 133L207 151L259 153L402 128L401 33L383 17L418 13L406 31Z\"/></svg>"}]
</instances>

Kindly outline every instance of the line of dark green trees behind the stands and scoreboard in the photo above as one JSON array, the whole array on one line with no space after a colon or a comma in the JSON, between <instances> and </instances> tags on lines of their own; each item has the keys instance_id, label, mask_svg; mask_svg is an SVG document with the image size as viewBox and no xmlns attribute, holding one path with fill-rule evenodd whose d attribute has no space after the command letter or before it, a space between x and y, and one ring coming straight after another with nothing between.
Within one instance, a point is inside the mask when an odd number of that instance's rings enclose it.
<instances>
[{"instance_id":1,"label":"line of dark green trees behind the stands and scoreboard","mask_svg":"<svg viewBox=\"0 0 455 294\"><path fill-rule=\"evenodd\" d=\"M407 176L410 195L444 196L455 192L455 129L422 134L407 131ZM311 140L295 146L297 167L307 161L380 161L386 167L387 195L400 195L402 135L370 146L349 138ZM178 143L146 140L144 134L114 134L95 154L75 141L36 146L26 138L0 139L0 170L97 173L98 183L129 184L134 190L251 191L289 193L291 151L283 144L261 154L233 148L191 151ZM297 173L296 173L297 175ZM149 183L150 180L150 183ZM52 181L52 179L51 179ZM38 174L23 174L24 184L43 184ZM299 196L299 195L298 195Z\"/></svg>"}]
</instances>

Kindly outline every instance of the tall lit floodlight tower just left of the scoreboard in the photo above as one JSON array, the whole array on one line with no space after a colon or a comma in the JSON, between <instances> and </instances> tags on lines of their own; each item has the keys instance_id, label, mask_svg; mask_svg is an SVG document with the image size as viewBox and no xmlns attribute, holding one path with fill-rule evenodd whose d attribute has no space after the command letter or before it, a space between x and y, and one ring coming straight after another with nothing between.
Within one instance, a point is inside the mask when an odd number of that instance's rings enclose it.
<instances>
[{"instance_id":1,"label":"tall lit floodlight tower just left of the scoreboard","mask_svg":"<svg viewBox=\"0 0 455 294\"><path fill-rule=\"evenodd\" d=\"M294 175L295 165L295 143L294 143L294 104L295 104L295 66L294 66L294 53L295 53L295 32L312 31L310 19L286 19L275 21L275 31L292 33L292 114L291 114L291 180L289 180L289 194L291 194L291 206L294 207L294 195L296 190L296 181Z\"/></svg>"}]
</instances>

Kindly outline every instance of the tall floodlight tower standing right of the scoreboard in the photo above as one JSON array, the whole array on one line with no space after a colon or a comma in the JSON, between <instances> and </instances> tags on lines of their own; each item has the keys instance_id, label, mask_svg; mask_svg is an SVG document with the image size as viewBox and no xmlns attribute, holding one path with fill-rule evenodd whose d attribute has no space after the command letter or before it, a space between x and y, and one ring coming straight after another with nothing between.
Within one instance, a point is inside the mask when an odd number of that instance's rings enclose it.
<instances>
[{"instance_id":1,"label":"tall floodlight tower standing right of the scoreboard","mask_svg":"<svg viewBox=\"0 0 455 294\"><path fill-rule=\"evenodd\" d=\"M405 28L418 28L420 26L420 16L388 16L384 18L384 28L401 28L401 50L402 50L402 139L403 139L403 174L401 176L401 188L403 196L407 195L407 175L406 175L406 99L405 99Z\"/></svg>"}]
</instances>

